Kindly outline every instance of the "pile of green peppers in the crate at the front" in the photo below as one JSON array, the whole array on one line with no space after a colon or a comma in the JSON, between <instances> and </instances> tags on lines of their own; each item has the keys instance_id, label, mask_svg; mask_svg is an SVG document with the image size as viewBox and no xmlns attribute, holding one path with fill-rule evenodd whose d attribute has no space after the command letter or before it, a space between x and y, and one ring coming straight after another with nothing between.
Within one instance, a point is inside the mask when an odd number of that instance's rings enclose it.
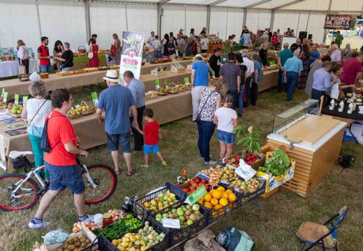
<instances>
[{"instance_id":1,"label":"pile of green peppers in the crate at the front","mask_svg":"<svg viewBox=\"0 0 363 251\"><path fill-rule=\"evenodd\" d=\"M138 220L138 218L135 218L134 215L129 214L126 216L126 218L114 222L104 229L95 231L94 234L96 234L96 236L103 235L105 238L108 238L108 240L112 241L116 238L119 238L120 236L123 236L124 234L127 234L128 232L138 229L141 227L141 225L142 222Z\"/></svg>"}]
</instances>

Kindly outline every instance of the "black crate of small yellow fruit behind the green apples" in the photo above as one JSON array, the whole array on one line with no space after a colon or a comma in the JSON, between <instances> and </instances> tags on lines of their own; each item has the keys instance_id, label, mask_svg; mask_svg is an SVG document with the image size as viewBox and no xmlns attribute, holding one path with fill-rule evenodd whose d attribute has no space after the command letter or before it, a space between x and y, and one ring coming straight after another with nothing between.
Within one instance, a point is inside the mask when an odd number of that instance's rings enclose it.
<instances>
[{"instance_id":1,"label":"black crate of small yellow fruit behind the green apples","mask_svg":"<svg viewBox=\"0 0 363 251\"><path fill-rule=\"evenodd\" d=\"M185 192L175 187L175 185L165 183L162 188L150 192L145 197L132 200L131 205L133 212L136 215L140 215L141 217L144 217L145 215L153 216L170 206L180 206L184 199L186 199Z\"/></svg>"}]
</instances>

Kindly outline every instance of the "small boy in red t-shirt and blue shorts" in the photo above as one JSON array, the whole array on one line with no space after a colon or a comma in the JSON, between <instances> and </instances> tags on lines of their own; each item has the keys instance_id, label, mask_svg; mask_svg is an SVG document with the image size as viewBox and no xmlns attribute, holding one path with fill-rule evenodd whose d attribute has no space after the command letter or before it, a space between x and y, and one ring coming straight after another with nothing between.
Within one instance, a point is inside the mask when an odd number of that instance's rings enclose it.
<instances>
[{"instance_id":1,"label":"small boy in red t-shirt and blue shorts","mask_svg":"<svg viewBox=\"0 0 363 251\"><path fill-rule=\"evenodd\" d=\"M144 130L140 130L138 125L135 126L135 129L138 130L142 135L145 135L144 141L144 154L145 154L145 165L141 165L142 167L149 167L149 153L152 151L158 158L161 160L161 165L166 167L168 165L163 156L161 155L158 149L158 139L161 139L161 130L158 122L154 121L154 112L152 109L145 109L142 113L144 119L147 121Z\"/></svg>"}]
</instances>

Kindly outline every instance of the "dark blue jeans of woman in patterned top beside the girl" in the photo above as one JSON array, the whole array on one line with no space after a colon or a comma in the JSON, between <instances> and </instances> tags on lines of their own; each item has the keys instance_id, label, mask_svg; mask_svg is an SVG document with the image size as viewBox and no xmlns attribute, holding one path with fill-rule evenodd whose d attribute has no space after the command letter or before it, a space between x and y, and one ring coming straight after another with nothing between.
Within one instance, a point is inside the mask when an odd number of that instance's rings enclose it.
<instances>
[{"instance_id":1,"label":"dark blue jeans of woman in patterned top beside the girl","mask_svg":"<svg viewBox=\"0 0 363 251\"><path fill-rule=\"evenodd\" d=\"M212 121L198 122L198 149L200 157L204 158L205 162L211 160L209 156L209 142L212 139L215 128L216 125Z\"/></svg>"}]
</instances>

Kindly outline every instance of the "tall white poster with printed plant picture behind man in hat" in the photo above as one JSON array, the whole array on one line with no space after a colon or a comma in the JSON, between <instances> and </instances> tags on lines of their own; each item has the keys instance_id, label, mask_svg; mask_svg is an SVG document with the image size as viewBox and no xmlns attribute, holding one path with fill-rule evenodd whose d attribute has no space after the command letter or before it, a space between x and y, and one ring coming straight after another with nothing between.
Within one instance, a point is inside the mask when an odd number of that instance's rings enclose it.
<instances>
[{"instance_id":1,"label":"tall white poster with printed plant picture behind man in hat","mask_svg":"<svg viewBox=\"0 0 363 251\"><path fill-rule=\"evenodd\" d=\"M136 79L140 79L143 46L143 32L122 32L122 52L119 73L120 79L123 79L124 72L126 72L126 70L130 70Z\"/></svg>"}]
</instances>

